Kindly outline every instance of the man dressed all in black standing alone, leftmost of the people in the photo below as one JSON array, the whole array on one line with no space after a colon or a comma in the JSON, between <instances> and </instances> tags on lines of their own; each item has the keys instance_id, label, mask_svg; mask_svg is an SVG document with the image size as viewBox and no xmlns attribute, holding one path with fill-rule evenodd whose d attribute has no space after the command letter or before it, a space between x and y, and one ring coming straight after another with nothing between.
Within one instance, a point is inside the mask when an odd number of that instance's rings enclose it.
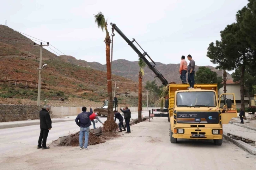
<instances>
[{"instance_id":1,"label":"man dressed all in black standing alone, leftmost of the people","mask_svg":"<svg viewBox=\"0 0 256 170\"><path fill-rule=\"evenodd\" d=\"M49 114L50 109L51 106L45 105L44 108L39 112L41 131L38 139L37 149L49 149L49 147L46 146L46 140L48 137L49 130L51 130L51 117Z\"/></svg>"}]
</instances>

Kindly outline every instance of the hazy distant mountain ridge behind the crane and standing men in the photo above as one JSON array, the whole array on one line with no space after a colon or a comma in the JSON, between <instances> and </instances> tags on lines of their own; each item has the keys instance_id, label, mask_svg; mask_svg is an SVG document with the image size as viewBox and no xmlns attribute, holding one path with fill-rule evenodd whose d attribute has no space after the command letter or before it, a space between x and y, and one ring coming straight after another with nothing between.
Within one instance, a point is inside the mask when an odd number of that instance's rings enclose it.
<instances>
[{"instance_id":1,"label":"hazy distant mountain ridge behind the crane and standing men","mask_svg":"<svg viewBox=\"0 0 256 170\"><path fill-rule=\"evenodd\" d=\"M72 56L66 56L66 55L60 55L59 56L62 60L68 60L68 62L80 65L84 67L90 67L95 70L100 71L106 71L106 65L100 64L97 62L87 62L85 60L77 60ZM196 61L195 61L196 62ZM168 82L175 81L176 83L179 83L181 80L179 78L179 64L163 64L160 62L155 62L157 69L163 74L163 76L166 78ZM128 61L125 59L118 59L112 61L113 64L113 70L112 73L117 76L122 76L125 78L129 78L135 82L138 81L138 71L139 71L139 65L138 61ZM153 63L151 63L153 64ZM195 66L195 71L198 70L200 66ZM213 66L206 66L210 68L212 71L217 72L218 76L222 76L222 71L214 68ZM155 74L148 68L144 68L145 75L143 77L143 82L146 82L147 80L153 81L154 79L157 80L157 84L161 85L161 82L158 78L154 78ZM227 79L232 79L231 74L227 73Z\"/></svg>"}]
</instances>

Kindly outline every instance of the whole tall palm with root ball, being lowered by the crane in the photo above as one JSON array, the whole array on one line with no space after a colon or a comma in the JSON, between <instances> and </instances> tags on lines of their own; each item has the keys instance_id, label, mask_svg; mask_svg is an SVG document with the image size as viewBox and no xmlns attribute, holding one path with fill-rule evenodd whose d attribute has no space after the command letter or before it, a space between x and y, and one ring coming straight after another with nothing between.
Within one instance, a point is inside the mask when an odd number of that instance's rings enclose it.
<instances>
[{"instance_id":1,"label":"whole tall palm with root ball, being lowered by the crane","mask_svg":"<svg viewBox=\"0 0 256 170\"><path fill-rule=\"evenodd\" d=\"M108 118L104 123L103 130L105 132L115 131L118 125L114 121L114 113L113 113L113 100L112 100L112 81L111 81L111 64L110 64L110 35L108 32L108 23L105 20L102 12L98 12L94 15L95 23L98 28L101 28L102 31L105 30L106 37L104 39L104 43L106 44L106 70L107 70L107 84L108 84Z\"/></svg>"}]
</instances>

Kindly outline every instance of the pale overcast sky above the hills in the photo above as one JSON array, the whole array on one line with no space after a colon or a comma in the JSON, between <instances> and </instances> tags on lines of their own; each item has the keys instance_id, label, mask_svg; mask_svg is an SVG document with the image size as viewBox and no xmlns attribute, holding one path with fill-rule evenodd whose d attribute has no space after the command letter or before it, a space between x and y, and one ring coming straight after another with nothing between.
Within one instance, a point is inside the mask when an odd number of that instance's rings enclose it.
<instances>
[{"instance_id":1,"label":"pale overcast sky above the hills","mask_svg":"<svg viewBox=\"0 0 256 170\"><path fill-rule=\"evenodd\" d=\"M130 40L135 38L154 61L178 64L181 55L191 54L196 65L214 66L206 57L208 45L220 39L220 31L236 21L236 12L247 3L247 0L5 0L1 1L0 24L7 20L8 27L49 41L66 55L105 64L105 33L96 27L93 17L101 11ZM111 31L110 24L108 29ZM138 60L138 55L117 33L113 50L113 60L116 59Z\"/></svg>"}]
</instances>

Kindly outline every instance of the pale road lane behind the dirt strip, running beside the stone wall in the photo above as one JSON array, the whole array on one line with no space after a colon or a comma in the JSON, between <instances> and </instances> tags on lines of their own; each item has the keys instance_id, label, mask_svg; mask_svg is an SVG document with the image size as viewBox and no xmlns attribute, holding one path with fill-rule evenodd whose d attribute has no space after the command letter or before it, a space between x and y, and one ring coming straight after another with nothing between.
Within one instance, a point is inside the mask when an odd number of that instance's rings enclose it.
<instances>
[{"instance_id":1,"label":"pale road lane behind the dirt strip, running beside the stone wall","mask_svg":"<svg viewBox=\"0 0 256 170\"><path fill-rule=\"evenodd\" d=\"M148 112L146 113L148 116ZM138 118L138 112L132 112L131 114L133 119ZM145 115L146 116L146 115ZM52 124L52 129L49 131L49 135L47 138L47 144L50 144L53 140L56 140L59 137L68 135L69 132L75 133L80 128L75 123L75 118L77 116L69 116L69 119L73 119L73 121L68 122L58 122ZM99 119L104 122L106 121L106 116L100 116ZM28 122L31 120L28 120ZM24 123L25 121L19 121ZM118 119L116 120L118 123ZM8 123L8 122L4 122ZM10 122L13 123L13 122ZM96 127L102 126L101 123L96 123ZM93 125L90 126L90 129L93 129ZM14 127L7 129L0 129L0 155L9 155L13 153L13 150L20 151L23 153L23 149L28 147L34 147L38 144L38 138L40 134L40 126L32 125L32 126L23 126L23 127ZM29 151L29 150L27 150Z\"/></svg>"}]
</instances>

